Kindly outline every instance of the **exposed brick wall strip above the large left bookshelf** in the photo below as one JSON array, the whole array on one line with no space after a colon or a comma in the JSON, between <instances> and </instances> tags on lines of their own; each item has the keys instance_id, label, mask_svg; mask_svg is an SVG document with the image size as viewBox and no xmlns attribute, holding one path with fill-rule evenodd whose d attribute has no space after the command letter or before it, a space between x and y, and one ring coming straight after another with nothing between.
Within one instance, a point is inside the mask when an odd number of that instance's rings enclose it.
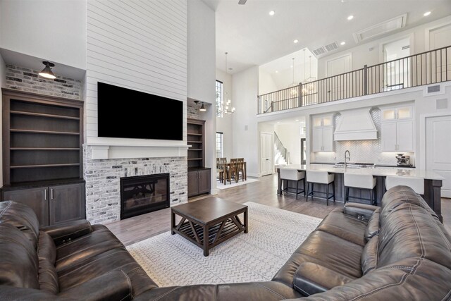
<instances>
[{"instance_id":1,"label":"exposed brick wall strip above the large left bookshelf","mask_svg":"<svg viewBox=\"0 0 451 301\"><path fill-rule=\"evenodd\" d=\"M6 65L6 87L24 92L82 100L80 80L58 75L54 80L50 80L39 76L39 72L20 66Z\"/></svg>"}]
</instances>

